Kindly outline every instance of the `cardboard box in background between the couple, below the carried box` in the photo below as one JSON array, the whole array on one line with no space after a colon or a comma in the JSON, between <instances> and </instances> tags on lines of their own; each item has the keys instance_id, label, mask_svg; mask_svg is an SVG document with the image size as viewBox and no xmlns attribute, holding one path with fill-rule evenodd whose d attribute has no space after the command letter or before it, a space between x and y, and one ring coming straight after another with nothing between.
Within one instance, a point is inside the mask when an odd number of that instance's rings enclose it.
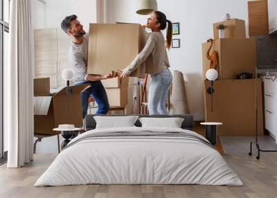
<instances>
[{"instance_id":1,"label":"cardboard box in background between the couple, below the carried box","mask_svg":"<svg viewBox=\"0 0 277 198\"><path fill-rule=\"evenodd\" d=\"M106 88L110 107L123 107L127 105L128 82L128 80L123 80L120 84L120 88Z\"/></svg>"}]
</instances>

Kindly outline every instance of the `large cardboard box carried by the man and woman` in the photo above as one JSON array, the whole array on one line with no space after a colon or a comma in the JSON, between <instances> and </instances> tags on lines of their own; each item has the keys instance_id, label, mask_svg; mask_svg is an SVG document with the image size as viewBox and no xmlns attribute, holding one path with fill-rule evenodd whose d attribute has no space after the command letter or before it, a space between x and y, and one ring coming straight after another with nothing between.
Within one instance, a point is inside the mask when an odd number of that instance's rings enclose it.
<instances>
[{"instance_id":1,"label":"large cardboard box carried by the man and woman","mask_svg":"<svg viewBox=\"0 0 277 198\"><path fill-rule=\"evenodd\" d=\"M138 55L148 38L139 24L90 24L87 73L120 71ZM145 64L131 76L144 77Z\"/></svg>"}]
</instances>

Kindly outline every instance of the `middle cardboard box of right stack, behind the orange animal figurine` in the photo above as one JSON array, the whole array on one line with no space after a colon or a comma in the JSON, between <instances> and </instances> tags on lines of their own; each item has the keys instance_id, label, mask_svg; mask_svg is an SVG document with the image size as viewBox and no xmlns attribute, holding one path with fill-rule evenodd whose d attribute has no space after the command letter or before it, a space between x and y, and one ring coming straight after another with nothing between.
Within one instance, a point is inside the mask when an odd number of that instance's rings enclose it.
<instances>
[{"instance_id":1,"label":"middle cardboard box of right stack, behind the orange animal figurine","mask_svg":"<svg viewBox=\"0 0 277 198\"><path fill-rule=\"evenodd\" d=\"M206 53L211 44L202 44L203 78L210 69L210 60ZM211 48L210 55L217 51L219 65L218 79L235 79L240 73L252 73L255 76L256 68L256 41L255 39L216 39Z\"/></svg>"}]
</instances>

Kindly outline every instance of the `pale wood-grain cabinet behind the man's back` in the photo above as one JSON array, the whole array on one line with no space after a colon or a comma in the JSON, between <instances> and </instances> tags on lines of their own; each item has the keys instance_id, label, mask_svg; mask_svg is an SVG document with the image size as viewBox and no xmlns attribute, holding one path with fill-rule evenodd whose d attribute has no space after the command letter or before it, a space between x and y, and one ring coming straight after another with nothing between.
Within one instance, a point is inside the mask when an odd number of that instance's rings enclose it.
<instances>
[{"instance_id":1,"label":"pale wood-grain cabinet behind the man's back","mask_svg":"<svg viewBox=\"0 0 277 198\"><path fill-rule=\"evenodd\" d=\"M70 37L60 28L34 31L35 78L50 78L51 88L66 84L62 80L62 70L69 66Z\"/></svg>"}]
</instances>

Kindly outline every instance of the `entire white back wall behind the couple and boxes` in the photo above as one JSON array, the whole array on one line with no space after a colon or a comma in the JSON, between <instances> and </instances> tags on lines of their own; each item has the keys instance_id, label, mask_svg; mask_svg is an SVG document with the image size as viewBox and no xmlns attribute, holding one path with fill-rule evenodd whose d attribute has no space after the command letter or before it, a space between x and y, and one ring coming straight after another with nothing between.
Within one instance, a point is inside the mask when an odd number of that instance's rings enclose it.
<instances>
[{"instance_id":1,"label":"entire white back wall behind the couple and boxes","mask_svg":"<svg viewBox=\"0 0 277 198\"><path fill-rule=\"evenodd\" d=\"M226 12L231 17L246 20L248 24L247 0L157 2L159 10L165 12L168 19L180 22L181 35L175 35L174 38L181 39L181 48L169 51L170 69L184 73L188 81L186 89L190 112L195 115L195 120L204 120L201 44L213 37L213 22L221 21ZM107 0L107 21L145 23L148 16L136 15L135 10L136 0ZM89 23L96 22L96 0L46 0L46 4L33 0L35 29L60 27L62 19L71 14L78 15L84 30L88 31ZM37 143L37 152L57 152L56 136L44 138L41 143Z\"/></svg>"}]
</instances>

